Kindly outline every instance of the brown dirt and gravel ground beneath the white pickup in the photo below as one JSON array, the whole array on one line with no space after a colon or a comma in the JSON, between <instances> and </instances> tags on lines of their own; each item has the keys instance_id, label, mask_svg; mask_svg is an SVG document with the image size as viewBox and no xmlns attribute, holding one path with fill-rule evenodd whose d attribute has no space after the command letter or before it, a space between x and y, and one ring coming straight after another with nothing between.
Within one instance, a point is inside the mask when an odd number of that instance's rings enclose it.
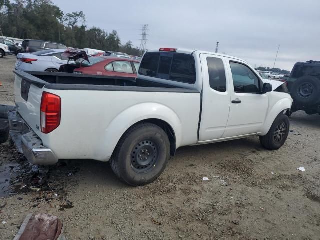
<instances>
[{"instance_id":1,"label":"brown dirt and gravel ground beneath the white pickup","mask_svg":"<svg viewBox=\"0 0 320 240\"><path fill-rule=\"evenodd\" d=\"M0 104L13 103L14 62L0 59ZM258 137L183 147L141 187L120 182L107 162L51 166L44 188L0 198L0 239L13 239L29 212L58 216L67 239L320 239L320 115L290 119L277 151ZM7 187L23 167L13 147L0 145Z\"/></svg>"}]
</instances>

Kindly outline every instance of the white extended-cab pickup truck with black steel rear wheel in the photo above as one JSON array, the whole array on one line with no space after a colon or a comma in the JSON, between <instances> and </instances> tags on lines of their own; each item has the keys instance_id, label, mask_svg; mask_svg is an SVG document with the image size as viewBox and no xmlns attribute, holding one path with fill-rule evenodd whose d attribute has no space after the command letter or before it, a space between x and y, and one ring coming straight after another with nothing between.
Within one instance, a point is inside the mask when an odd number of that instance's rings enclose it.
<instances>
[{"instance_id":1,"label":"white extended-cab pickup truck with black steel rear wheel","mask_svg":"<svg viewBox=\"0 0 320 240\"><path fill-rule=\"evenodd\" d=\"M10 135L30 162L110 160L134 186L156 179L181 146L257 135L276 150L289 132L285 84L231 56L150 50L137 78L14 72Z\"/></svg>"}]
</instances>

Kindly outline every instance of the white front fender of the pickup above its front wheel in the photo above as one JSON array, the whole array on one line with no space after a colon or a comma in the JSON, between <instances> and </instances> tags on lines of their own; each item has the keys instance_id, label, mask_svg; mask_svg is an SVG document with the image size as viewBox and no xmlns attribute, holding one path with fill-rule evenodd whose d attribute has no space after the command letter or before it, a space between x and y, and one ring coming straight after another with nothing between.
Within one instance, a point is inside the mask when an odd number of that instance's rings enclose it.
<instances>
[{"instance_id":1,"label":"white front fender of the pickup above its front wheel","mask_svg":"<svg viewBox=\"0 0 320 240\"><path fill-rule=\"evenodd\" d=\"M286 94L288 95L288 97L283 98L282 94ZM269 103L272 107L270 108L270 110L268 110L266 119L264 121L264 124L262 125L261 132L259 133L259 135L261 136L264 136L268 133L273 121L281 111L291 108L292 101L293 101L290 95L287 93L270 92L270 95L272 96L270 96L269 99L274 100L275 103L273 102Z\"/></svg>"}]
</instances>

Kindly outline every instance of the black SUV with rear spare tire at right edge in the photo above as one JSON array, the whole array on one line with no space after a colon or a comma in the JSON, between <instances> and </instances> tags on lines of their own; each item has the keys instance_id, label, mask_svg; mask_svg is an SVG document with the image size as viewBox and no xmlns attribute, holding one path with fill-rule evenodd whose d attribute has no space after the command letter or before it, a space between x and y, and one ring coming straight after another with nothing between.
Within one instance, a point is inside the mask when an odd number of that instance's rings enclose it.
<instances>
[{"instance_id":1,"label":"black SUV with rear spare tire at right edge","mask_svg":"<svg viewBox=\"0 0 320 240\"><path fill-rule=\"evenodd\" d=\"M293 98L291 112L320 114L320 61L295 63L286 81Z\"/></svg>"}]
</instances>

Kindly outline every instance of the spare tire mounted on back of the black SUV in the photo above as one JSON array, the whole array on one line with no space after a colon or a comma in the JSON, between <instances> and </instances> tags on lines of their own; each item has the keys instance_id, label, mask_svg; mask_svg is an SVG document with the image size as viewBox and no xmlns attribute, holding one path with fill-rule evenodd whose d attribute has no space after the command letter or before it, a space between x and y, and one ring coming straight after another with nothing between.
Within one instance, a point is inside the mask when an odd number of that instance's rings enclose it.
<instances>
[{"instance_id":1,"label":"spare tire mounted on back of the black SUV","mask_svg":"<svg viewBox=\"0 0 320 240\"><path fill-rule=\"evenodd\" d=\"M299 77L291 87L295 104L311 106L320 102L320 79L314 76Z\"/></svg>"}]
</instances>

